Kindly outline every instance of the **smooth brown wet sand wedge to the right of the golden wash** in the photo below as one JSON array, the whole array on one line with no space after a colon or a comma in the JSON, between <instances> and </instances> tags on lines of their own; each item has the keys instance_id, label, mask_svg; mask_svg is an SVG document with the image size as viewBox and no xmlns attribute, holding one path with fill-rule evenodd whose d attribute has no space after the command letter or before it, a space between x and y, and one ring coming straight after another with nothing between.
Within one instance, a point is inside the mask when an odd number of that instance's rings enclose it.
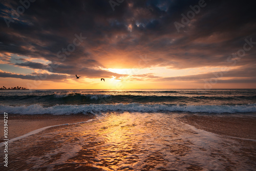
<instances>
[{"instance_id":1,"label":"smooth brown wet sand wedge to the right of the golden wash","mask_svg":"<svg viewBox=\"0 0 256 171\"><path fill-rule=\"evenodd\" d=\"M179 120L211 133L256 140L255 117L188 115Z\"/></svg>"}]
</instances>

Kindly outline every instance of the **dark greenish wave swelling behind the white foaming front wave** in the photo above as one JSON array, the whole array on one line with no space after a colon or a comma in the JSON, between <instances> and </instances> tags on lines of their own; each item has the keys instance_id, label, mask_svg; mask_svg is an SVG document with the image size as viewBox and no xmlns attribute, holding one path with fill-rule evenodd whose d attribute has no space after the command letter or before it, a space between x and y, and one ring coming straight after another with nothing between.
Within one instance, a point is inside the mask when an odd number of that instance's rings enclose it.
<instances>
[{"instance_id":1,"label":"dark greenish wave swelling behind the white foaming front wave","mask_svg":"<svg viewBox=\"0 0 256 171\"><path fill-rule=\"evenodd\" d=\"M20 96L0 96L1 104L5 105L32 105L41 104L44 106L59 105L82 105L82 104L116 104L116 103L142 103L142 104L187 104L187 105L233 105L255 103L255 95L182 95L155 93L148 94L105 94L105 93L84 93L81 91L51 92L50 94L23 94Z\"/></svg>"}]
</instances>

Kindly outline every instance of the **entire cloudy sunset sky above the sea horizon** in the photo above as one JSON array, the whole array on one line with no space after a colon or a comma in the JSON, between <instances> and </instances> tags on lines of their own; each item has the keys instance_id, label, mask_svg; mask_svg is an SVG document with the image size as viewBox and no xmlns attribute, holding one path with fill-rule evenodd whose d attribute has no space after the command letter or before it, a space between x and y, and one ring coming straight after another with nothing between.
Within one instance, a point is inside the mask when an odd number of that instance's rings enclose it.
<instances>
[{"instance_id":1,"label":"entire cloudy sunset sky above the sea horizon","mask_svg":"<svg viewBox=\"0 0 256 171\"><path fill-rule=\"evenodd\" d=\"M256 88L255 7L246 0L1 1L0 87Z\"/></svg>"}]
</instances>

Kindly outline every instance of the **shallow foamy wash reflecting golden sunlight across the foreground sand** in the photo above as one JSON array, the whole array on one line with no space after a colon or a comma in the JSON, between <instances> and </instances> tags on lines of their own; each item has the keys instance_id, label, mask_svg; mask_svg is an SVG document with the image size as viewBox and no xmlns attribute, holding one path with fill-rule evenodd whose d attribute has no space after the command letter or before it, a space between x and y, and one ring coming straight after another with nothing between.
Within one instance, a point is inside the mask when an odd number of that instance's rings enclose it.
<instances>
[{"instance_id":1,"label":"shallow foamy wash reflecting golden sunlight across the foreground sand","mask_svg":"<svg viewBox=\"0 0 256 171\"><path fill-rule=\"evenodd\" d=\"M255 147L175 113L112 113L9 144L8 170L253 170ZM184 114L185 115L185 114ZM2 150L2 149L1 149Z\"/></svg>"}]
</instances>

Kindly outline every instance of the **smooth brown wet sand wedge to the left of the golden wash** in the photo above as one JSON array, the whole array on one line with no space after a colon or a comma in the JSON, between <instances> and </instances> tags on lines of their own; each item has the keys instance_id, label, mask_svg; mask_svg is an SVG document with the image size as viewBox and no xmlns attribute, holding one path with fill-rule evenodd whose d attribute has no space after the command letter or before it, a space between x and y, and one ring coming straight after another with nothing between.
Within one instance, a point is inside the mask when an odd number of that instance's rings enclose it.
<instances>
[{"instance_id":1,"label":"smooth brown wet sand wedge to the left of the golden wash","mask_svg":"<svg viewBox=\"0 0 256 171\"><path fill-rule=\"evenodd\" d=\"M25 135L31 131L40 129L46 126L53 126L66 123L83 122L94 118L93 115L9 115L8 116L8 139L13 139ZM3 123L0 124L1 130ZM2 131L3 132L3 131ZM0 136L0 142L3 142L4 137Z\"/></svg>"}]
</instances>

